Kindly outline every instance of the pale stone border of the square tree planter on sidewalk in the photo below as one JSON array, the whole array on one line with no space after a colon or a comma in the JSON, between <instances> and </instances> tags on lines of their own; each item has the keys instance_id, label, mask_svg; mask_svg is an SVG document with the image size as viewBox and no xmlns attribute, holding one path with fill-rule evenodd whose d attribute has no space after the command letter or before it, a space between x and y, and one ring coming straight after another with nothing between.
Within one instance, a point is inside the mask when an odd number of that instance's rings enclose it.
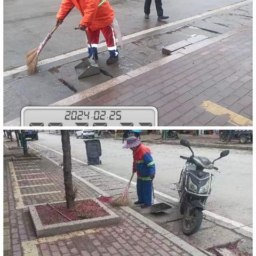
<instances>
[{"instance_id":1,"label":"pale stone border of the square tree planter on sidewalk","mask_svg":"<svg viewBox=\"0 0 256 256\"><path fill-rule=\"evenodd\" d=\"M31 218L33 220L37 237L59 235L59 234L64 234L64 233L69 233L69 232L74 232L74 231L79 231L84 229L99 228L99 227L115 224L119 221L120 217L116 213L108 209L107 206L102 204L96 198L79 199L79 200L76 200L76 202L89 200L89 199L97 203L103 210L107 212L108 215L105 217L97 217L97 218L74 220L74 221L67 220L67 222L61 222L61 223L56 223L52 225L43 225L38 215L36 206L39 206L39 205L43 206L46 204L29 205L28 209L29 209ZM66 201L54 202L54 203L51 203L51 205L54 206L54 204L58 204L58 203L66 203Z\"/></svg>"}]
</instances>

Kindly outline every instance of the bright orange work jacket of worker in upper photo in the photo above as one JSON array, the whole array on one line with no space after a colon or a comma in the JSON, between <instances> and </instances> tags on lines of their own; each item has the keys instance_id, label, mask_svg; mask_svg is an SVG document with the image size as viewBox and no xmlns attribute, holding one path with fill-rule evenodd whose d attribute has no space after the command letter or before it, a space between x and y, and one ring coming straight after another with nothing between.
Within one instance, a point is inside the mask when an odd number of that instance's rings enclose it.
<instances>
[{"instance_id":1,"label":"bright orange work jacket of worker in upper photo","mask_svg":"<svg viewBox=\"0 0 256 256\"><path fill-rule=\"evenodd\" d=\"M111 25L115 17L111 5L106 0L62 0L57 19L64 19L74 6L83 16L80 24L92 31Z\"/></svg>"}]
</instances>

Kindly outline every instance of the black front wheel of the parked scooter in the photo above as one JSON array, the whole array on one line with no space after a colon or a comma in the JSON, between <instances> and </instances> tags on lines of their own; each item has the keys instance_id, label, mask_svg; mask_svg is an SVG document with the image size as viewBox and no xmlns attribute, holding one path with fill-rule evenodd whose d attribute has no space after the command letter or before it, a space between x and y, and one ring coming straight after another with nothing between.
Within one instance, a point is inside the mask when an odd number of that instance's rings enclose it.
<instances>
[{"instance_id":1,"label":"black front wheel of the parked scooter","mask_svg":"<svg viewBox=\"0 0 256 256\"><path fill-rule=\"evenodd\" d=\"M182 219L182 232L185 235L195 234L198 229L201 227L203 220L203 212L202 209L194 208L194 209L186 209L183 214Z\"/></svg>"}]
</instances>

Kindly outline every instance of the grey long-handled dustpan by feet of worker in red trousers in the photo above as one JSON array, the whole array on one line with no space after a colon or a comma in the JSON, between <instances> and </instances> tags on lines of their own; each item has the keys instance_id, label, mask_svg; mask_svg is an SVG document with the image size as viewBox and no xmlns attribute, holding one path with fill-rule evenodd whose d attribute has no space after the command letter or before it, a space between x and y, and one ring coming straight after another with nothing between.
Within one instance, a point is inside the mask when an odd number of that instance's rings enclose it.
<instances>
[{"instance_id":1,"label":"grey long-handled dustpan by feet of worker in red trousers","mask_svg":"<svg viewBox=\"0 0 256 256\"><path fill-rule=\"evenodd\" d=\"M75 28L75 29L79 29L79 28ZM92 44L91 44L90 38L89 38L86 30L85 30L85 33L86 33L86 37L87 37L87 40L90 45L90 49L92 51L94 63L91 63L89 58L85 58L80 64L76 65L75 70L76 70L78 79L82 79L82 78L85 78L88 76L100 74L100 68L99 68L97 62L95 61L95 55L92 50Z\"/></svg>"}]
</instances>

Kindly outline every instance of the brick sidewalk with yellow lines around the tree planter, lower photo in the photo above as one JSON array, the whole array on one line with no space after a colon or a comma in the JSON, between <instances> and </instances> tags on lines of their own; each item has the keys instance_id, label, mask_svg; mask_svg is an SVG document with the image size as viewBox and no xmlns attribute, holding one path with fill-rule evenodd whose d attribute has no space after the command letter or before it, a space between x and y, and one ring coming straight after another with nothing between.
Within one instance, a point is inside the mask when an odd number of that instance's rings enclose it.
<instances>
[{"instance_id":1,"label":"brick sidewalk with yellow lines around the tree planter, lower photo","mask_svg":"<svg viewBox=\"0 0 256 256\"><path fill-rule=\"evenodd\" d=\"M5 148L5 153L8 151L11 150ZM142 215L133 214L129 207L109 205L111 210L122 217L118 225L37 239L27 205L63 201L65 190L62 175L58 165L42 156L25 161L13 161L10 156L5 157L5 256L205 255L167 230L161 231L164 229L157 225L156 231L154 222L145 222ZM99 191L93 190L81 180L73 177L73 182L78 190L77 199L99 196Z\"/></svg>"}]
</instances>

